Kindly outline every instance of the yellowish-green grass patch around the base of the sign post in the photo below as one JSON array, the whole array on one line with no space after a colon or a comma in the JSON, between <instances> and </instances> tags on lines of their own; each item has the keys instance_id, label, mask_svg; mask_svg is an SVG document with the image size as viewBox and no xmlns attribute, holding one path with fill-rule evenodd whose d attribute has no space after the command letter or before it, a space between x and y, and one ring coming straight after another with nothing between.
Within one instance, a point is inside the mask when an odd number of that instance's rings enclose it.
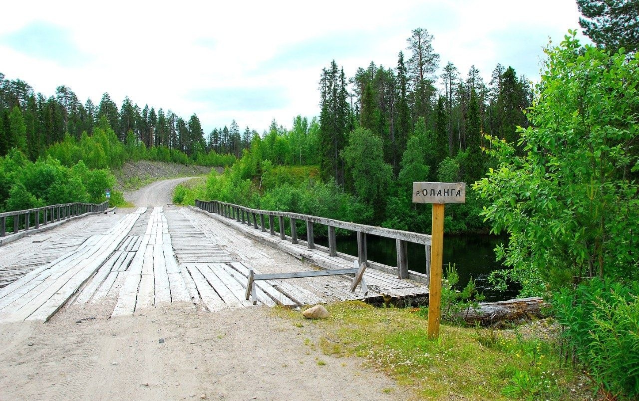
<instances>
[{"instance_id":1,"label":"yellowish-green grass patch around the base of the sign post","mask_svg":"<svg viewBox=\"0 0 639 401\"><path fill-rule=\"evenodd\" d=\"M327 355L360 356L365 365L410 386L413 399L583 400L579 377L562 365L553 342L534 335L442 325L427 339L427 320L415 309L335 303L330 316L311 321L323 333L305 338ZM299 312L275 308L296 325Z\"/></svg>"}]
</instances>

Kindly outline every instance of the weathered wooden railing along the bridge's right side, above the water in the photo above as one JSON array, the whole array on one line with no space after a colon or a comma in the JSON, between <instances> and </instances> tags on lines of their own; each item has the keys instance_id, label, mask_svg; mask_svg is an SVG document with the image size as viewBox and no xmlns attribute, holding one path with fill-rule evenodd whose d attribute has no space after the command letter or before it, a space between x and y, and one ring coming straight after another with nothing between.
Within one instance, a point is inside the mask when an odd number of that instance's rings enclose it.
<instances>
[{"instance_id":1,"label":"weathered wooden railing along the bridge's right side, above the water","mask_svg":"<svg viewBox=\"0 0 639 401\"><path fill-rule=\"evenodd\" d=\"M290 220L291 236L290 241L293 244L298 243L297 238L297 220L306 222L307 246L309 249L316 248L313 235L314 224L326 225L328 227L328 255L337 256L337 239L335 238L335 229L344 229L357 233L357 258L361 265L367 262L366 235L376 235L385 238L393 238L396 241L397 249L397 277L408 278L408 243L418 243L426 246L426 275L410 271L412 278L419 277L421 279L429 279L430 277L430 260L431 260L431 236L427 234L419 234L417 232L401 231L386 229L383 227L374 227L372 225L364 225L357 223L343 222L331 218L323 218L311 215L300 215L299 213L290 213L284 211L269 211L251 209L245 206L220 202L220 201L199 201L196 199L197 208L208 211L209 213L217 213L226 218L237 220L247 225L252 225L254 229L267 230L266 218L268 218L268 231L272 236L275 234L275 218L279 220L279 237L286 238L286 227L284 219ZM252 220L252 222L251 222ZM323 248L323 247L322 247ZM373 267L375 264L372 264ZM394 269L392 266L378 264L384 269ZM423 281L423 280L421 280Z\"/></svg>"}]
</instances>

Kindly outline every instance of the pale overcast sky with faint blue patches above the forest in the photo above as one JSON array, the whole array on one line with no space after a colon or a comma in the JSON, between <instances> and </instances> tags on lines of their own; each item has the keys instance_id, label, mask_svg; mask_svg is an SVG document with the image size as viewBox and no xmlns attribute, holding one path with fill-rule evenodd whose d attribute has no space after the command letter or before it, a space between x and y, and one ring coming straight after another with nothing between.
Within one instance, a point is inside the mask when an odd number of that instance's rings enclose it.
<instances>
[{"instance_id":1,"label":"pale overcast sky with faint blue patches above the forest","mask_svg":"<svg viewBox=\"0 0 639 401\"><path fill-rule=\"evenodd\" d=\"M443 67L488 82L497 63L537 80L543 47L579 28L574 0L536 1L12 1L3 4L0 72L45 96L107 92L144 107L196 113L262 132L275 118L319 114L321 69L347 77L371 61L395 68L412 29L435 36ZM382 5L383 4L383 5ZM408 56L406 56L408 58Z\"/></svg>"}]
</instances>

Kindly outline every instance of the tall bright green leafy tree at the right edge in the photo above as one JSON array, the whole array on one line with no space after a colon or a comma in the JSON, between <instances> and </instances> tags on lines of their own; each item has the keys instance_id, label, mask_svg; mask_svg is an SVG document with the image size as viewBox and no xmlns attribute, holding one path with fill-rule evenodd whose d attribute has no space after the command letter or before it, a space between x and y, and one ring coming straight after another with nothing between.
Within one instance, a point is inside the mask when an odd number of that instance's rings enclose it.
<instances>
[{"instance_id":1,"label":"tall bright green leafy tree at the right edge","mask_svg":"<svg viewBox=\"0 0 639 401\"><path fill-rule=\"evenodd\" d=\"M497 169L474 186L482 215L510 235L498 249L523 285L542 294L580 277L639 277L639 55L580 47L574 33L548 61L515 144L491 139ZM499 273L498 273L499 274ZM503 282L502 282L503 284Z\"/></svg>"}]
</instances>

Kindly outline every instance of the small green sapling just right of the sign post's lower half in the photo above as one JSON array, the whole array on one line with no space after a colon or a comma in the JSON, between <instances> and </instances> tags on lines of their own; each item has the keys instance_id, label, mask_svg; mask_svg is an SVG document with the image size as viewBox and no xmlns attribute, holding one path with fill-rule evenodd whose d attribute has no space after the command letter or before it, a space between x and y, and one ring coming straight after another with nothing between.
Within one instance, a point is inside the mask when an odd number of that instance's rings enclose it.
<instances>
[{"instance_id":1,"label":"small green sapling just right of the sign post's lower half","mask_svg":"<svg viewBox=\"0 0 639 401\"><path fill-rule=\"evenodd\" d=\"M450 263L446 268L446 276L442 282L442 320L448 322L461 322L461 314L479 309L479 302L486 297L475 289L475 280L470 278L462 291L458 291L459 274L455 265Z\"/></svg>"}]
</instances>

